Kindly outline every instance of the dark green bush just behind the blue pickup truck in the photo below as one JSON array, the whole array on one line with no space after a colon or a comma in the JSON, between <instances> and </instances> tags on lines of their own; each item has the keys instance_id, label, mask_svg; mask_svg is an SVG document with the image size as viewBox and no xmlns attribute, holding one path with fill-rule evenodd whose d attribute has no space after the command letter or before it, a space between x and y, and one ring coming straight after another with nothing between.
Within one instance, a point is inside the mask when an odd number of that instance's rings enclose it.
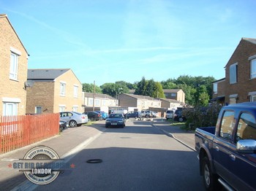
<instances>
[{"instance_id":1,"label":"dark green bush just behind the blue pickup truck","mask_svg":"<svg viewBox=\"0 0 256 191\"><path fill-rule=\"evenodd\" d=\"M216 125L221 106L213 105L208 107L195 106L184 109L182 114L187 118L186 128L195 130L200 127L211 127Z\"/></svg>"}]
</instances>

